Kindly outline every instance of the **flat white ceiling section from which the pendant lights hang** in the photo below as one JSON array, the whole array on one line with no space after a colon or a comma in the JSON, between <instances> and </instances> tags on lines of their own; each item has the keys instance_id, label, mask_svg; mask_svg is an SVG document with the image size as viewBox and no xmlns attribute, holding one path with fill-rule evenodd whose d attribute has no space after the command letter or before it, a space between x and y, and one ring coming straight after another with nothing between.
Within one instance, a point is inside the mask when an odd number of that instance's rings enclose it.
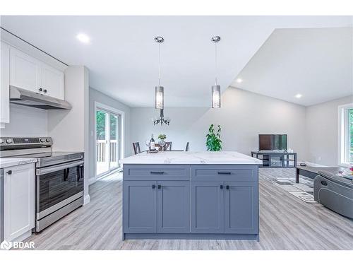
<instances>
[{"instance_id":1,"label":"flat white ceiling section from which the pendant lights hang","mask_svg":"<svg viewBox=\"0 0 353 265\"><path fill-rule=\"evenodd\" d=\"M67 64L88 66L92 88L131 107L153 105L157 85L157 44L153 38L162 35L165 106L186 107L210 106L210 87L215 78L214 45L210 42L213 35L222 37L218 80L225 90L276 28L347 27L352 26L352 17L2 16L1 26ZM89 35L90 44L78 42L78 33ZM261 69L251 71L258 73ZM250 80L261 82L251 71L246 73L244 69L246 81L241 88L251 90L248 84L253 85L247 83ZM273 90L277 90L276 81ZM256 89L261 93L259 85ZM283 92L287 87L281 83L278 89Z\"/></svg>"}]
</instances>

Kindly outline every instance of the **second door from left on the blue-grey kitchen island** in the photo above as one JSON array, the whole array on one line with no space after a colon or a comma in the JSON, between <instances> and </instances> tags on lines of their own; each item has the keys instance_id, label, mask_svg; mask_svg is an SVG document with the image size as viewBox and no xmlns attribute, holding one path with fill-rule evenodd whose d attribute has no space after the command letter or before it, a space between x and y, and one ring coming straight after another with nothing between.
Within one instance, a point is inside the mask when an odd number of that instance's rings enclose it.
<instances>
[{"instance_id":1,"label":"second door from left on the blue-grey kitchen island","mask_svg":"<svg viewBox=\"0 0 353 265\"><path fill-rule=\"evenodd\" d=\"M190 182L157 182L157 232L190 232Z\"/></svg>"}]
</instances>

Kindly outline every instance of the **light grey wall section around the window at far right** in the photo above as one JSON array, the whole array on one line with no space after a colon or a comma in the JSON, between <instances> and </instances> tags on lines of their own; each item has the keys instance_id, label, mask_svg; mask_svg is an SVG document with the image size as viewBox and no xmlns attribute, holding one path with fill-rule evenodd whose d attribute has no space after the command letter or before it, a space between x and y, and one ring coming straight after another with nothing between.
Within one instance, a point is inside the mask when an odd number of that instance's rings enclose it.
<instances>
[{"instance_id":1,"label":"light grey wall section around the window at far right","mask_svg":"<svg viewBox=\"0 0 353 265\"><path fill-rule=\"evenodd\" d=\"M353 102L353 96L306 107L307 160L337 165L338 106Z\"/></svg>"}]
</instances>

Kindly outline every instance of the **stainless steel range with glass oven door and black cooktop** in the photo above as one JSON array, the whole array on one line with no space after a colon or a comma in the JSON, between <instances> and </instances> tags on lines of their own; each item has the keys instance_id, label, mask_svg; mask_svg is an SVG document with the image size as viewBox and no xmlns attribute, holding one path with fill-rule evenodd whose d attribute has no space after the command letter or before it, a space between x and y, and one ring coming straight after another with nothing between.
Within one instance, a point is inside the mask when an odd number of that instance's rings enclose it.
<instances>
[{"instance_id":1,"label":"stainless steel range with glass oven door and black cooktop","mask_svg":"<svg viewBox=\"0 0 353 265\"><path fill-rule=\"evenodd\" d=\"M35 232L83 205L82 152L52 152L50 137L2 137L0 157L37 158Z\"/></svg>"}]
</instances>

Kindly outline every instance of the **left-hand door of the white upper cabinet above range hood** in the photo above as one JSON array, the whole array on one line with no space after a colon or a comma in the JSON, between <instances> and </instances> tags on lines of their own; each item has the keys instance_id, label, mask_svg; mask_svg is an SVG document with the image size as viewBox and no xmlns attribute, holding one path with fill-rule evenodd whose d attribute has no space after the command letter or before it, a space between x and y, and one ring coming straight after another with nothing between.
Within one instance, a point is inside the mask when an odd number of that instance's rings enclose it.
<instances>
[{"instance_id":1,"label":"left-hand door of the white upper cabinet above range hood","mask_svg":"<svg viewBox=\"0 0 353 265\"><path fill-rule=\"evenodd\" d=\"M11 47L10 85L33 92L40 89L40 61Z\"/></svg>"}]
</instances>

